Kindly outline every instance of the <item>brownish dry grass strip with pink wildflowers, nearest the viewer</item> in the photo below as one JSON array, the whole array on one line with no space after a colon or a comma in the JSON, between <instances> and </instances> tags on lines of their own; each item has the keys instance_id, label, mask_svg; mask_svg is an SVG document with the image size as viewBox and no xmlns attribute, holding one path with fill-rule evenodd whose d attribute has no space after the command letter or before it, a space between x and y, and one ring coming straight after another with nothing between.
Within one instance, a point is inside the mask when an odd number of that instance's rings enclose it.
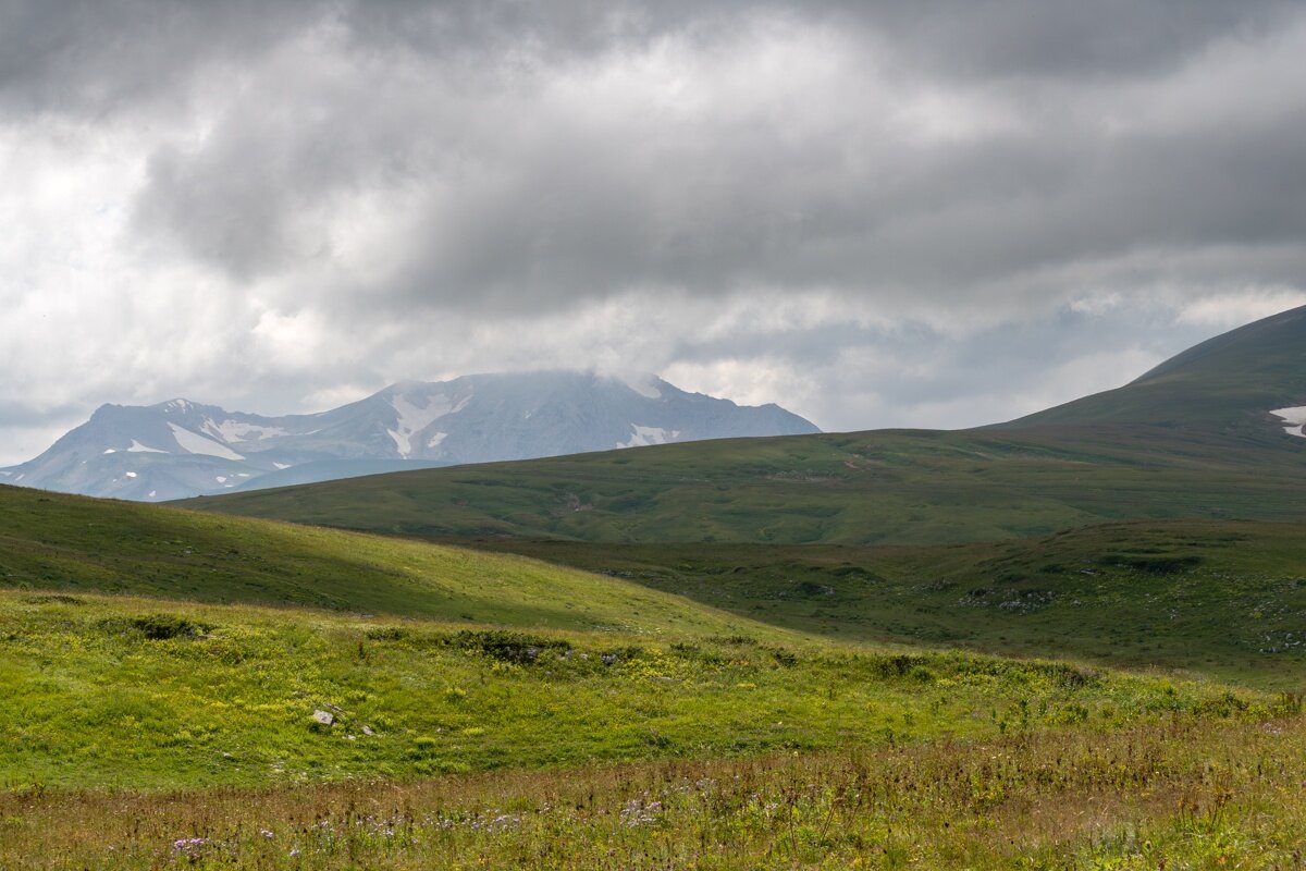
<instances>
[{"instance_id":1,"label":"brownish dry grass strip with pink wildflowers, nearest the viewer","mask_svg":"<svg viewBox=\"0 0 1306 871\"><path fill-rule=\"evenodd\" d=\"M1301 868L1306 721L415 782L0 794L4 868Z\"/></svg>"}]
</instances>

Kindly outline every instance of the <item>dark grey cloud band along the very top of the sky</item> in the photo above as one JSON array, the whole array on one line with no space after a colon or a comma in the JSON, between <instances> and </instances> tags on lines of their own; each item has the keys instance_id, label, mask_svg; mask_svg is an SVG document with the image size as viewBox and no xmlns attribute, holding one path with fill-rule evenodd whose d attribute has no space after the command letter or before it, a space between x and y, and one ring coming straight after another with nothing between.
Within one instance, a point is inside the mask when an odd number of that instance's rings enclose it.
<instances>
[{"instance_id":1,"label":"dark grey cloud band along the very top of the sky","mask_svg":"<svg viewBox=\"0 0 1306 871\"><path fill-rule=\"evenodd\" d=\"M38 108L110 108L172 87L214 59L242 59L330 20L360 47L427 54L606 51L614 42L737 26L784 13L882 31L914 63L959 76L1127 76L1230 35L1258 38L1292 0L7 0L0 85ZM98 106L97 106L98 104Z\"/></svg>"}]
</instances>

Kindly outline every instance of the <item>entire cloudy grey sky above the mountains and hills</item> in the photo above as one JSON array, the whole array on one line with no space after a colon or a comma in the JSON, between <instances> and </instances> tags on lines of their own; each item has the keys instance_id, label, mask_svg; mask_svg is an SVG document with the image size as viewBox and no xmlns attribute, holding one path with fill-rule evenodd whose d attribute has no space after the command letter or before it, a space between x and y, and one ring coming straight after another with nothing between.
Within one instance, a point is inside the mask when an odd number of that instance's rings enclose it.
<instances>
[{"instance_id":1,"label":"entire cloudy grey sky above the mountains and hills","mask_svg":"<svg viewBox=\"0 0 1306 871\"><path fill-rule=\"evenodd\" d=\"M0 0L0 465L586 368L955 428L1306 304L1306 4Z\"/></svg>"}]
</instances>

